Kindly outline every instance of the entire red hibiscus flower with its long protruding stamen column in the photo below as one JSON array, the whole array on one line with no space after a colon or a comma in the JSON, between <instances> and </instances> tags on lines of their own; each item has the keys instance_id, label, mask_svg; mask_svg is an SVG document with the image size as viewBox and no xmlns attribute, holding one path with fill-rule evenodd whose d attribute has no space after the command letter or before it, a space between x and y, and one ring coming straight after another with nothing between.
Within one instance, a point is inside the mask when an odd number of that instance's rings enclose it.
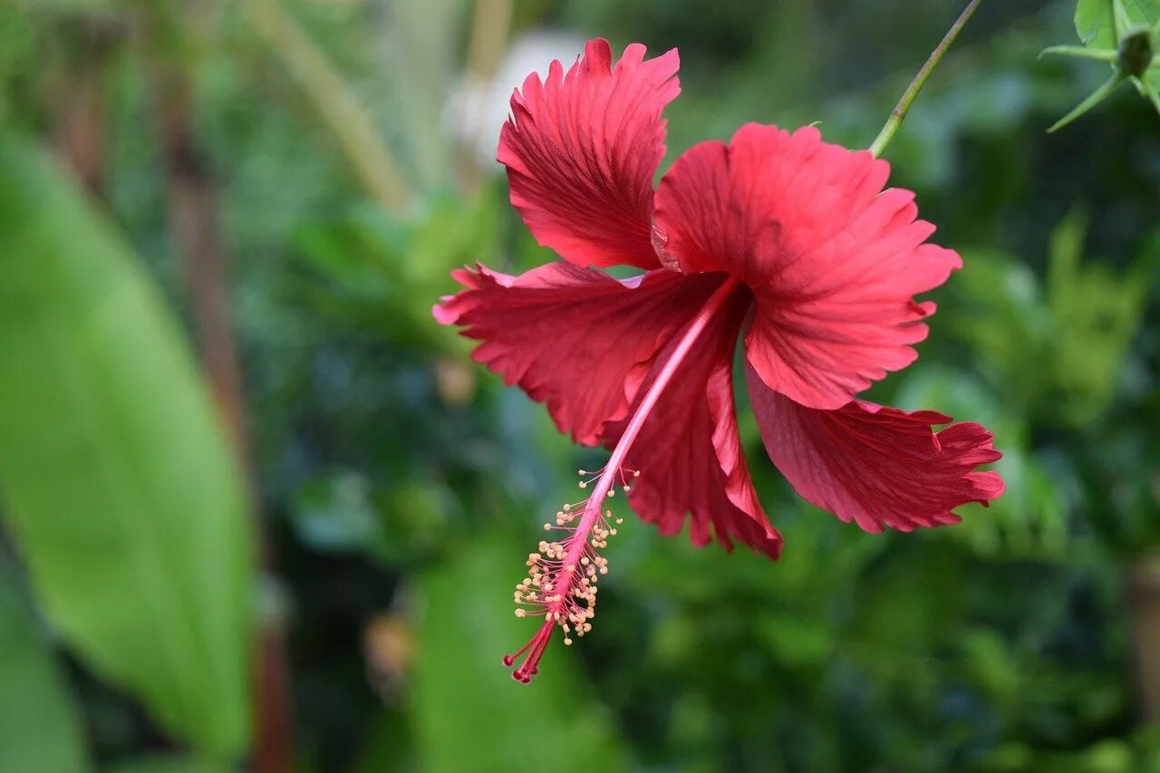
<instances>
[{"instance_id":1,"label":"entire red hibiscus flower with its long protruding stamen column","mask_svg":"<svg viewBox=\"0 0 1160 773\"><path fill-rule=\"evenodd\" d=\"M914 361L930 302L962 261L927 241L914 195L883 189L868 151L747 124L682 154L653 190L661 111L679 93L676 51L615 65L603 39L564 73L530 75L512 97L499 160L512 203L564 259L520 276L455 272L466 289L434 313L481 344L474 359L545 403L560 432L611 449L565 505L559 539L528 558L516 614L543 615L505 658L529 681L552 633L590 629L599 549L616 533L606 497L629 492L662 534L742 542L771 558L782 537L761 507L738 436L733 353L774 464L806 500L869 532L954 523L954 508L1000 496L1000 457L978 424L855 398ZM614 279L597 268L635 266ZM638 477L639 476L639 477Z\"/></svg>"}]
</instances>

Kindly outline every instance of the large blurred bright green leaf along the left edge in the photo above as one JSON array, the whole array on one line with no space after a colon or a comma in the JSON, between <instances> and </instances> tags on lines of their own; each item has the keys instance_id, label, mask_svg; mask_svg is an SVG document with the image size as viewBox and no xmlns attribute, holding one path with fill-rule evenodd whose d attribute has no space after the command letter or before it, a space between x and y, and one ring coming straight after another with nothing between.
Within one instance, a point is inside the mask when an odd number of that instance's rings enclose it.
<instances>
[{"instance_id":1,"label":"large blurred bright green leaf along the left edge","mask_svg":"<svg viewBox=\"0 0 1160 773\"><path fill-rule=\"evenodd\" d=\"M246 500L173 317L32 144L0 135L0 496L49 619L176 736L248 737Z\"/></svg>"}]
</instances>

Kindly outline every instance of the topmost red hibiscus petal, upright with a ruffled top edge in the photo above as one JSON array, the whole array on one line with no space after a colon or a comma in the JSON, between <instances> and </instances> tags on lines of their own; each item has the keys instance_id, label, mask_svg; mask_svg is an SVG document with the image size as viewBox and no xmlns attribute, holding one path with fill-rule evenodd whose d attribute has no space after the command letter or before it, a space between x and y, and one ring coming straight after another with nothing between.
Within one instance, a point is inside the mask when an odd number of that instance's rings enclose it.
<instances>
[{"instance_id":1,"label":"topmost red hibiscus petal, upright with a ruffled top edge","mask_svg":"<svg viewBox=\"0 0 1160 773\"><path fill-rule=\"evenodd\" d=\"M539 244L578 266L657 268L653 176L665 156L661 110L680 93L676 50L644 60L633 43L612 66L589 41L567 74L553 62L512 96L498 159L512 204Z\"/></svg>"}]
</instances>

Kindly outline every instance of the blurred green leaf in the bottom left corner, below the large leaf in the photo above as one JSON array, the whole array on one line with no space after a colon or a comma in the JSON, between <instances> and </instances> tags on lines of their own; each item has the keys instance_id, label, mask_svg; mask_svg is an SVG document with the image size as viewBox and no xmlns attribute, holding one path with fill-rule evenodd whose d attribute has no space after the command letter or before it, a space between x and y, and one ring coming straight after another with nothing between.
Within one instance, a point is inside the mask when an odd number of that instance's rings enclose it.
<instances>
[{"instance_id":1,"label":"blurred green leaf in the bottom left corner, below the large leaf","mask_svg":"<svg viewBox=\"0 0 1160 773\"><path fill-rule=\"evenodd\" d=\"M0 771L87 771L72 698L16 588L0 577Z\"/></svg>"}]
</instances>

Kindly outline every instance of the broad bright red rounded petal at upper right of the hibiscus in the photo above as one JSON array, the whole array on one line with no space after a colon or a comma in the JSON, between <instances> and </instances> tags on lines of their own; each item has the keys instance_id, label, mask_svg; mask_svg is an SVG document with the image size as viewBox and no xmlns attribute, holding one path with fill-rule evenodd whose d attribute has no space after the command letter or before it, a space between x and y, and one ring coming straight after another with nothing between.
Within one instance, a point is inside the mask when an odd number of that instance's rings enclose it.
<instances>
[{"instance_id":1,"label":"broad bright red rounded petal at upper right of the hibiscus","mask_svg":"<svg viewBox=\"0 0 1160 773\"><path fill-rule=\"evenodd\" d=\"M657 192L662 262L751 287L749 362L803 405L839 409L913 362L935 308L913 296L962 266L926 244L934 226L915 219L914 194L883 192L889 171L812 127L748 124L682 154Z\"/></svg>"}]
</instances>

